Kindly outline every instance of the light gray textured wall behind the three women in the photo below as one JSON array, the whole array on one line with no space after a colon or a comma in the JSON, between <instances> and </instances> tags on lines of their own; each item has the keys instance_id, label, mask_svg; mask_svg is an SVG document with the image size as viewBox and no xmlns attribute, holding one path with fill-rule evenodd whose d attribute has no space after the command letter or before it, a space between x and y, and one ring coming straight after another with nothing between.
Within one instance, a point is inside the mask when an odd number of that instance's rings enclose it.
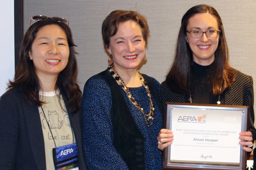
<instances>
[{"instance_id":1,"label":"light gray textured wall behind the three women","mask_svg":"<svg viewBox=\"0 0 256 170\"><path fill-rule=\"evenodd\" d=\"M88 78L107 68L101 24L113 10L135 10L148 18L148 61L141 72L164 80L172 64L183 14L197 4L212 5L220 14L228 41L231 66L256 80L256 1L248 0L24 0L24 30L34 15L69 19L76 45L80 87ZM256 83L254 84L254 89Z\"/></svg>"}]
</instances>

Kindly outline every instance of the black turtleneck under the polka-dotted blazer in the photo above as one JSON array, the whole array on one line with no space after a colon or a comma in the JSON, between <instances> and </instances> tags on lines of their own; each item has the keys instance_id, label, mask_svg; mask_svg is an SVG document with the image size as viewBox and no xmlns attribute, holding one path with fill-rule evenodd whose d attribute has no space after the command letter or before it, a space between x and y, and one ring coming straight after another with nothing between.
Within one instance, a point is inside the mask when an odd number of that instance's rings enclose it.
<instances>
[{"instance_id":1,"label":"black turtleneck under the polka-dotted blazer","mask_svg":"<svg viewBox=\"0 0 256 170\"><path fill-rule=\"evenodd\" d=\"M191 66L190 91L192 103L217 104L218 96L213 96L212 83L209 82L210 70L213 64L203 66L195 62ZM189 95L188 95L189 98ZM186 99L186 102L188 99ZM224 100L220 96L220 101ZM223 104L223 101L221 102Z\"/></svg>"}]
</instances>

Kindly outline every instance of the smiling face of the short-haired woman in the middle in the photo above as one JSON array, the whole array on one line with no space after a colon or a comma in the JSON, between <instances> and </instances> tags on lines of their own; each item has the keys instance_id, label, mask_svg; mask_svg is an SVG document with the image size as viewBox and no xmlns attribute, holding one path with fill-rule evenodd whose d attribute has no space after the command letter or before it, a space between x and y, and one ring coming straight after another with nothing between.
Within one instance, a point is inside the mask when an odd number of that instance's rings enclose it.
<instances>
[{"instance_id":1,"label":"smiling face of the short-haired woman in the middle","mask_svg":"<svg viewBox=\"0 0 256 170\"><path fill-rule=\"evenodd\" d=\"M140 25L133 20L120 23L117 33L110 38L107 50L117 71L137 69L145 56L145 41Z\"/></svg>"}]
</instances>

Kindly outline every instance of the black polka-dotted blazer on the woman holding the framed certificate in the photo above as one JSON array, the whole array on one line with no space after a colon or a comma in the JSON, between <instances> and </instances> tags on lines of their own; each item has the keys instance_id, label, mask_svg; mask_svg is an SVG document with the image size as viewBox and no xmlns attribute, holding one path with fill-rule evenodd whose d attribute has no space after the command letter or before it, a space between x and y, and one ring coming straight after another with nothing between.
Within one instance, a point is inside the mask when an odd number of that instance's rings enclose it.
<instances>
[{"instance_id":1,"label":"black polka-dotted blazer on the woman holding the framed certificate","mask_svg":"<svg viewBox=\"0 0 256 170\"><path fill-rule=\"evenodd\" d=\"M252 76L248 76L236 69L233 69L233 71L235 72L235 82L231 87L226 89L221 96L224 96L224 105L249 106L250 115L248 130L252 132L254 141L256 130L254 127ZM189 95L173 92L164 81L161 84L161 97L163 105L165 105L165 102L185 103L186 99L189 98Z\"/></svg>"}]
</instances>

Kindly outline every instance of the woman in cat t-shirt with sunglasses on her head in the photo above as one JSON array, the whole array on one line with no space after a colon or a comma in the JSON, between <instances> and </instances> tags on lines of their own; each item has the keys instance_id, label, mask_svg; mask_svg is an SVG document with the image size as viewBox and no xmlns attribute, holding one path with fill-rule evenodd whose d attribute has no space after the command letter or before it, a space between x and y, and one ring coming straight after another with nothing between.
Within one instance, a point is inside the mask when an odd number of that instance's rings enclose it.
<instances>
[{"instance_id":1,"label":"woman in cat t-shirt with sunglasses on her head","mask_svg":"<svg viewBox=\"0 0 256 170\"><path fill-rule=\"evenodd\" d=\"M68 20L35 16L20 62L0 98L0 169L50 170L60 162L84 170L82 93ZM67 24L66 24L67 23ZM54 154L55 153L55 154Z\"/></svg>"}]
</instances>

